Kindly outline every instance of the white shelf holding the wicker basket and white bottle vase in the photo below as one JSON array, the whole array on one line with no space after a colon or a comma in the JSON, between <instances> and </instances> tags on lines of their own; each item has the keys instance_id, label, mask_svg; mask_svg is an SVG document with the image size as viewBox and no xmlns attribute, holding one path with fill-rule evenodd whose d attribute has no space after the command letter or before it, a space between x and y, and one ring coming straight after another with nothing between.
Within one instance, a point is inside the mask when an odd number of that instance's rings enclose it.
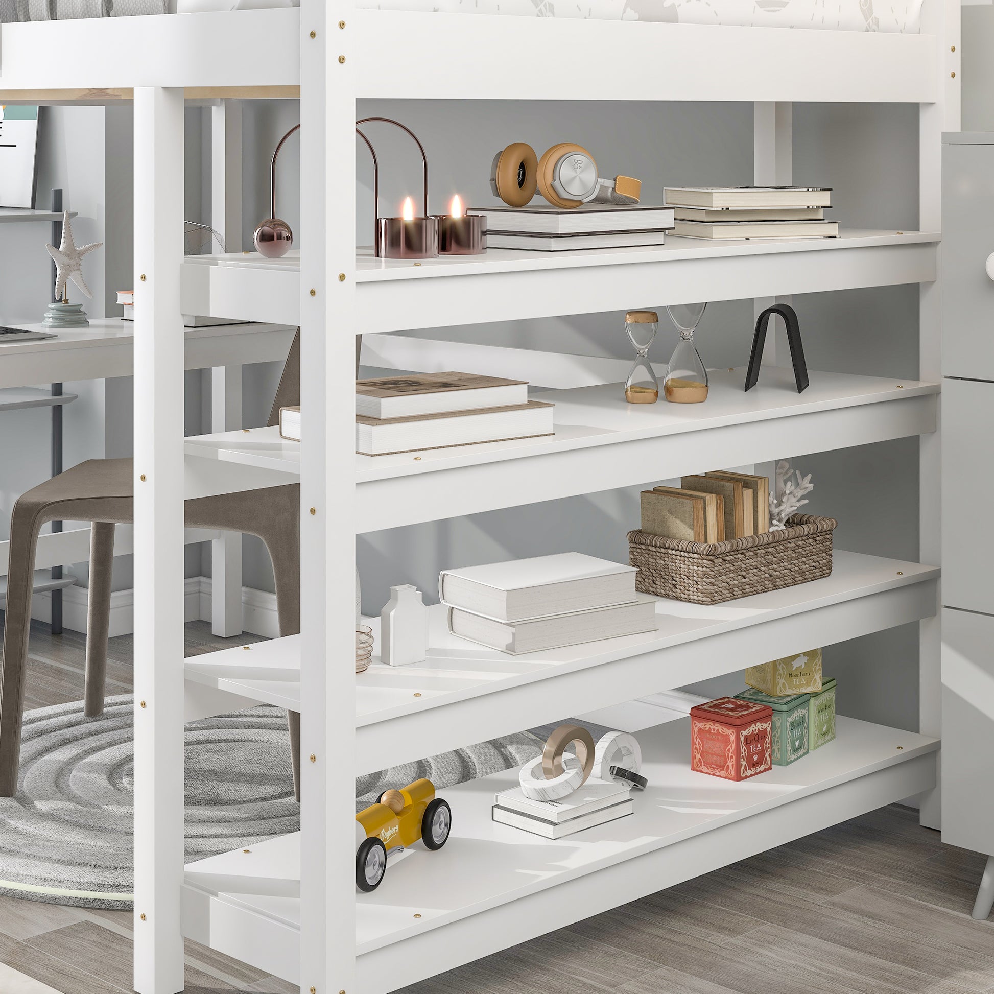
<instances>
[{"instance_id":1,"label":"white shelf holding the wicker basket and white bottle vase","mask_svg":"<svg viewBox=\"0 0 994 994\"><path fill-rule=\"evenodd\" d=\"M823 580L725 604L659 598L656 631L520 656L449 634L436 604L425 662L377 655L356 676L356 775L929 617L938 576L836 551ZM379 619L366 623L378 645ZM233 694L301 710L298 635L195 656L185 672L188 721L233 710Z\"/></svg>"}]
</instances>

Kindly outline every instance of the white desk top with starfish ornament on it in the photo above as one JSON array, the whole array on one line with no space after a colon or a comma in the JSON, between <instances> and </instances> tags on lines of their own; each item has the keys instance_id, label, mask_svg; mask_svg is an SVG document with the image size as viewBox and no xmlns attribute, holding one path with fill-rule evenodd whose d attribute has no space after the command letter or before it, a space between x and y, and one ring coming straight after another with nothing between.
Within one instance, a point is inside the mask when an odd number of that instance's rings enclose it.
<instances>
[{"instance_id":1,"label":"white desk top with starfish ornament on it","mask_svg":"<svg viewBox=\"0 0 994 994\"><path fill-rule=\"evenodd\" d=\"M54 332L40 323L16 323L9 327L45 331L54 333L56 337L0 342L0 388L102 380L106 377L131 376L133 372L133 321L117 317L90 318L88 326L84 328L59 328ZM209 328L177 326L169 331L160 328L158 332L185 337L187 369L210 369L215 366L284 360L296 334L296 325L291 327L246 323Z\"/></svg>"}]
</instances>

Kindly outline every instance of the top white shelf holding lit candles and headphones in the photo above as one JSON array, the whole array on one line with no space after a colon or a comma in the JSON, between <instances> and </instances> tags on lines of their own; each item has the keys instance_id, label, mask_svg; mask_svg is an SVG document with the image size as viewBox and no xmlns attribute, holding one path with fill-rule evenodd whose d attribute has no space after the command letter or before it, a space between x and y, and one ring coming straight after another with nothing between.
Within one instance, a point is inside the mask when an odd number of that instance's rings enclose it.
<instances>
[{"instance_id":1,"label":"top white shelf holding lit candles and headphones","mask_svg":"<svg viewBox=\"0 0 994 994\"><path fill-rule=\"evenodd\" d=\"M861 230L844 231L837 239L670 237L655 248L491 248L482 255L419 263L376 259L370 249L361 249L355 272L358 313L362 332L369 334L917 283L935 278L938 241L927 232ZM295 249L280 259L234 252L183 260L187 314L296 325L300 296Z\"/></svg>"}]
</instances>

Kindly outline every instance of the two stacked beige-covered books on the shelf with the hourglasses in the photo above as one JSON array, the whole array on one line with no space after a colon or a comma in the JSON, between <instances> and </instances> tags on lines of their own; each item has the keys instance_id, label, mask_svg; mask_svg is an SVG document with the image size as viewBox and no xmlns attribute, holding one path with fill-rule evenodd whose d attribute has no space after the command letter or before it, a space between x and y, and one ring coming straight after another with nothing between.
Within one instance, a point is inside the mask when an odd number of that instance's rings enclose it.
<instances>
[{"instance_id":1,"label":"two stacked beige-covered books on the shelf with the hourglasses","mask_svg":"<svg viewBox=\"0 0 994 994\"><path fill-rule=\"evenodd\" d=\"M473 373L417 373L356 381L356 451L393 455L555 433L554 405L528 383ZM279 433L300 440L300 408L281 408Z\"/></svg>"}]
</instances>

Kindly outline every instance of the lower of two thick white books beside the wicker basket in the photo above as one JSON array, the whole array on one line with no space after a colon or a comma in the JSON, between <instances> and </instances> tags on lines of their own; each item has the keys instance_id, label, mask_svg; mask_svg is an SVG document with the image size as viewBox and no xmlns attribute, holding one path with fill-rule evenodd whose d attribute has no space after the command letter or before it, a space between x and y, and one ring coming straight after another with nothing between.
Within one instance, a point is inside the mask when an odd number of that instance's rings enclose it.
<instances>
[{"instance_id":1,"label":"lower of two thick white books beside the wicker basket","mask_svg":"<svg viewBox=\"0 0 994 994\"><path fill-rule=\"evenodd\" d=\"M637 596L639 599L633 604L594 607L528 621L495 621L482 614L449 607L448 630L467 641L512 656L655 631L659 627L656 598L647 593Z\"/></svg>"}]
</instances>

